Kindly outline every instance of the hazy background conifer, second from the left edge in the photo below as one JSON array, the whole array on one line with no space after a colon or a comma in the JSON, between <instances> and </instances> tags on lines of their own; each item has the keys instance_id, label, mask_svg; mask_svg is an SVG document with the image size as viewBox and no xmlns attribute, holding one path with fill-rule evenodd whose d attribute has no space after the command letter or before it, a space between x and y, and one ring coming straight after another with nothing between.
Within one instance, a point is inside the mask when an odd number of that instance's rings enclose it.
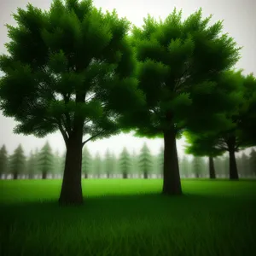
<instances>
[{"instance_id":1,"label":"hazy background conifer, second from the left edge","mask_svg":"<svg viewBox=\"0 0 256 256\"><path fill-rule=\"evenodd\" d=\"M14 179L18 178L18 175L24 173L26 166L26 156L24 155L23 148L19 144L15 149L14 154L9 159L9 172L13 175Z\"/></svg>"}]
</instances>

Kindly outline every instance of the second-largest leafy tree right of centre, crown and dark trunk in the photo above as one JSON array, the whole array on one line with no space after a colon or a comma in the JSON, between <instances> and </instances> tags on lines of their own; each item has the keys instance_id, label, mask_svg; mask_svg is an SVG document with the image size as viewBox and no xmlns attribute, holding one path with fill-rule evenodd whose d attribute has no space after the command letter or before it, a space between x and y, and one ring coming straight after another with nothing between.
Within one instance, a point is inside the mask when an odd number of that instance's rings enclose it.
<instances>
[{"instance_id":1,"label":"second-largest leafy tree right of centre, crown and dark trunk","mask_svg":"<svg viewBox=\"0 0 256 256\"><path fill-rule=\"evenodd\" d=\"M204 130L215 129L218 112L231 105L214 81L218 73L236 64L239 48L228 34L220 35L222 21L208 26L210 20L211 16L202 18L200 9L183 21L182 12L175 9L159 22L148 15L143 27L132 31L137 78L147 106L124 122L135 121L137 136L164 137L162 192L166 195L182 194L176 138L195 121L204 122ZM205 122L209 116L212 119Z\"/></svg>"}]
</instances>

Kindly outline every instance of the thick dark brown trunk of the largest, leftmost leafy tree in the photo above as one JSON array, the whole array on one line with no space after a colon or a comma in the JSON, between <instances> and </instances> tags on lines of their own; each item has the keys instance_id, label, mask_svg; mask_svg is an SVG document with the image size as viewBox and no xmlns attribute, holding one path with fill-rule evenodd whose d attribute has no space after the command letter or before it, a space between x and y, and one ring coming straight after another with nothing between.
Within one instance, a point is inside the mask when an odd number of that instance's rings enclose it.
<instances>
[{"instance_id":1,"label":"thick dark brown trunk of the largest, leftmost leafy tree","mask_svg":"<svg viewBox=\"0 0 256 256\"><path fill-rule=\"evenodd\" d=\"M81 168L82 168L83 123L74 127L67 139L66 161L61 186L59 203L61 205L80 205L83 203Z\"/></svg>"}]
</instances>

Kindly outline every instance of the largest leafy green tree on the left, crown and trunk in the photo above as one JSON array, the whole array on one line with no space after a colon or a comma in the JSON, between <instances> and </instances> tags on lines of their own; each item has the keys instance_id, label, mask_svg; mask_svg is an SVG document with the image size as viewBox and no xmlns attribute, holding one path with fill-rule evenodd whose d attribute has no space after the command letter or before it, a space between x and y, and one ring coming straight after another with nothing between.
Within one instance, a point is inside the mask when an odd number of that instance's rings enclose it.
<instances>
[{"instance_id":1,"label":"largest leafy green tree on the left, crown and trunk","mask_svg":"<svg viewBox=\"0 0 256 256\"><path fill-rule=\"evenodd\" d=\"M1 109L19 122L16 133L61 131L67 155L59 202L81 204L83 145L117 133L119 115L143 102L131 77L130 22L91 0L54 0L49 11L28 4L14 17L9 55L0 57Z\"/></svg>"}]
</instances>

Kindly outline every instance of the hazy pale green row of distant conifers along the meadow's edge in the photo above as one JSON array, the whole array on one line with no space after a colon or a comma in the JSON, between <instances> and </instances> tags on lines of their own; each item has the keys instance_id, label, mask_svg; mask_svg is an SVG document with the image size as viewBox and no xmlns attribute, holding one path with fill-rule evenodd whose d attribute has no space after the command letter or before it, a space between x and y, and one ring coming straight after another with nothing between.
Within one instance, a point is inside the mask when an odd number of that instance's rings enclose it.
<instances>
[{"instance_id":1,"label":"hazy pale green row of distant conifers along the meadow's edge","mask_svg":"<svg viewBox=\"0 0 256 256\"><path fill-rule=\"evenodd\" d=\"M5 145L0 148L0 177L3 178L60 178L63 175L66 154L59 151L53 152L49 143L45 143L41 150L36 148L26 157L24 150L19 145L13 154L8 154ZM189 159L187 154L179 158L179 169L183 178L211 177L209 173L209 159L193 156ZM241 154L236 158L238 172L241 177L256 176L256 150L251 153ZM123 148L117 157L107 149L104 157L98 152L93 157L90 150L84 147L82 158L83 178L150 178L162 177L164 163L164 150L160 148L157 155L151 154L148 145L143 144L140 153L129 154ZM214 158L215 177L229 177L229 157Z\"/></svg>"}]
</instances>

